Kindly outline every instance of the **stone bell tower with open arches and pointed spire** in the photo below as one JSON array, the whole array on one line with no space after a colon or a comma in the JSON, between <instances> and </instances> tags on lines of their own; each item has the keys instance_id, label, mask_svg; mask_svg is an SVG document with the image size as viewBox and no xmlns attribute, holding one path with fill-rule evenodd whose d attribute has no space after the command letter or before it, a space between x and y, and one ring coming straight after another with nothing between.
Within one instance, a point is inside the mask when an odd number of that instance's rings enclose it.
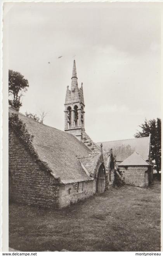
<instances>
[{"instance_id":1,"label":"stone bell tower with open arches and pointed spire","mask_svg":"<svg viewBox=\"0 0 163 256\"><path fill-rule=\"evenodd\" d=\"M78 78L76 75L75 60L73 63L73 75L71 77L71 90L67 86L65 99L65 127L64 131L73 134L81 140L84 128L84 97L83 97L83 83L78 88Z\"/></svg>"}]
</instances>

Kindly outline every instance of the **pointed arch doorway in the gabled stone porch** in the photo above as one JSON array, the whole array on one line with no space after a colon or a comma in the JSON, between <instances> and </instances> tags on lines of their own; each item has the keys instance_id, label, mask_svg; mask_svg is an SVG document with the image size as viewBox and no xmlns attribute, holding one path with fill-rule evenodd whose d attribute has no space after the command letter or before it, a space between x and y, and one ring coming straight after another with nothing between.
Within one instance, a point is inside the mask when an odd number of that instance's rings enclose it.
<instances>
[{"instance_id":1,"label":"pointed arch doorway in the gabled stone porch","mask_svg":"<svg viewBox=\"0 0 163 256\"><path fill-rule=\"evenodd\" d=\"M106 178L105 178L105 167L103 164L100 165L99 171L97 174L97 181L96 181L96 192L97 193L102 193L105 190L105 183L106 183Z\"/></svg>"}]
</instances>

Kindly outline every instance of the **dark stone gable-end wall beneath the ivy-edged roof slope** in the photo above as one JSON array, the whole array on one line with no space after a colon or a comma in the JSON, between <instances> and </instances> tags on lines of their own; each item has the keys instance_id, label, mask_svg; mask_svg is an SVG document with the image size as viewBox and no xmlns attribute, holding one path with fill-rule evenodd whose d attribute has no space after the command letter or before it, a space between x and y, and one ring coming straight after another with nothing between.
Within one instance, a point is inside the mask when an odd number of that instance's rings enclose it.
<instances>
[{"instance_id":1,"label":"dark stone gable-end wall beneath the ivy-edged roof slope","mask_svg":"<svg viewBox=\"0 0 163 256\"><path fill-rule=\"evenodd\" d=\"M28 205L58 207L54 177L41 170L15 133L9 129L9 198Z\"/></svg>"}]
</instances>

